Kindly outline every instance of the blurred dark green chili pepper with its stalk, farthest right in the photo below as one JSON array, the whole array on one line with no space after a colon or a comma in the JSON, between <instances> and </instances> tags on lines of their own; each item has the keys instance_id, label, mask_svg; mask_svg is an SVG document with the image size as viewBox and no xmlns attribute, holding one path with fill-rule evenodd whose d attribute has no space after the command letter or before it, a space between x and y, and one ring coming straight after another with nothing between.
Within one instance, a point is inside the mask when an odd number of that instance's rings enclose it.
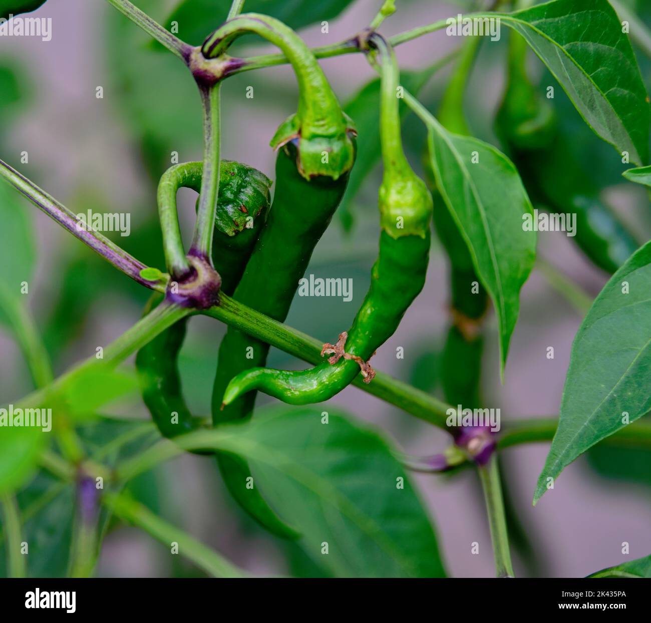
<instances>
[{"instance_id":1,"label":"blurred dark green chili pepper with its stalk, farthest right","mask_svg":"<svg viewBox=\"0 0 651 623\"><path fill-rule=\"evenodd\" d=\"M508 85L496 131L518 167L527 192L550 212L576 215L574 242L603 270L615 272L639 243L599 197L581 163L571 156L553 108L527 76L527 44L511 33Z\"/></svg>"}]
</instances>

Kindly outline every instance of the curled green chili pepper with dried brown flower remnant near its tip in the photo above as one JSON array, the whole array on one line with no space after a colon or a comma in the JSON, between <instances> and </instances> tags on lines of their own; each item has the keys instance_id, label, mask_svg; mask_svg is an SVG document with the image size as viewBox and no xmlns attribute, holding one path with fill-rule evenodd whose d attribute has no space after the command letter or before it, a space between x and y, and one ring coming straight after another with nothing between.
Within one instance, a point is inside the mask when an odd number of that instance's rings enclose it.
<instances>
[{"instance_id":1,"label":"curled green chili pepper with dried brown flower remnant near its tip","mask_svg":"<svg viewBox=\"0 0 651 623\"><path fill-rule=\"evenodd\" d=\"M398 66L390 46L380 35L370 45L381 57L380 137L384 164L379 193L380 255L371 285L352 328L337 344L326 344L332 356L299 372L254 368L230 381L225 405L253 389L290 404L328 400L359 374L370 382L374 372L367 359L395 332L404 312L421 292L430 250L432 197L413 172L402 150L398 114ZM248 268L247 268L248 270Z\"/></svg>"}]
</instances>

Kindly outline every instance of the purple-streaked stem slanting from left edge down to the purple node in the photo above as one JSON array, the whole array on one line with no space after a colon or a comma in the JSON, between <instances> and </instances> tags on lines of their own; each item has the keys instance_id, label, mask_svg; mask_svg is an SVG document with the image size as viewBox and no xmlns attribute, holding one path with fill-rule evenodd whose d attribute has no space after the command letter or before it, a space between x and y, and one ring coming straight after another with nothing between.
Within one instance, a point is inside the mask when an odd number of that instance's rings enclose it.
<instances>
[{"instance_id":1,"label":"purple-streaked stem slanting from left edge down to the purple node","mask_svg":"<svg viewBox=\"0 0 651 623\"><path fill-rule=\"evenodd\" d=\"M152 290L164 291L164 287L158 281L148 281L141 277L140 271L147 268L145 264L129 255L124 249L120 249L117 244L100 234L100 232L94 231L90 225L80 225L73 212L2 160L0 160L0 175L35 204L37 208L57 221L61 227L67 229L79 240L86 243L124 274L138 283L152 288Z\"/></svg>"}]
</instances>

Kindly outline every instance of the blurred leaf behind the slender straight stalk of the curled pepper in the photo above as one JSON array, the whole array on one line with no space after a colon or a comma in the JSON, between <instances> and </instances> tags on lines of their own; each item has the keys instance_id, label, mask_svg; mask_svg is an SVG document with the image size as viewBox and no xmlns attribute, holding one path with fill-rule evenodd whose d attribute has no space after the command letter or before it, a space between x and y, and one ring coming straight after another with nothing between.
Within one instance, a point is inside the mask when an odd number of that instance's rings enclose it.
<instances>
[{"instance_id":1,"label":"blurred leaf behind the slender straight stalk of the curled pepper","mask_svg":"<svg viewBox=\"0 0 651 623\"><path fill-rule=\"evenodd\" d=\"M422 72L400 72L400 84L413 93L419 94L428 79L432 77L441 66L447 63L448 59L433 65ZM402 102L401 102L402 104ZM344 228L348 231L353 223L353 203L361 189L364 180L380 162L380 79L368 82L357 92L344 106L344 112L352 118L357 128L357 157L355 166L350 172L346 193L337 210L342 218ZM408 107L400 106L400 119L402 122L409 113Z\"/></svg>"}]
</instances>

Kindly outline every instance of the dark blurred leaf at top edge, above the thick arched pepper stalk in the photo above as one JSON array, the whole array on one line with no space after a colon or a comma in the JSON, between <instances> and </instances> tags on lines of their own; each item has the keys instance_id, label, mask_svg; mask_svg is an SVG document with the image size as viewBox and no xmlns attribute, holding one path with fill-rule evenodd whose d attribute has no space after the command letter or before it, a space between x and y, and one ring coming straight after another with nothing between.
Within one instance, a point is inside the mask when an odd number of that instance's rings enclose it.
<instances>
[{"instance_id":1,"label":"dark blurred leaf at top edge, above the thick arched pepper stalk","mask_svg":"<svg viewBox=\"0 0 651 623\"><path fill-rule=\"evenodd\" d=\"M244 12L264 13L298 30L316 22L334 20L352 1L247 0ZM229 8L230 0L184 0L165 20L165 27L170 29L172 22L177 21L178 36L189 44L199 46L212 31L226 21Z\"/></svg>"}]
</instances>

